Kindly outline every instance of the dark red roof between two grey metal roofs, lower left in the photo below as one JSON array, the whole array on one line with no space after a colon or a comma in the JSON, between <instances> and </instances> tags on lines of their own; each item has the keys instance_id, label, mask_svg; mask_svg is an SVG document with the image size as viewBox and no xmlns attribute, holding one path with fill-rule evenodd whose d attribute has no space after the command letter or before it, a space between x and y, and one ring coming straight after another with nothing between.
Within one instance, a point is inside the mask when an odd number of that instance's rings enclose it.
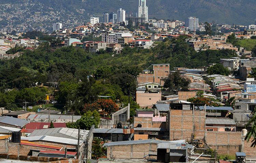
<instances>
[{"instance_id":1,"label":"dark red roof between two grey metal roofs, lower left","mask_svg":"<svg viewBox=\"0 0 256 163\"><path fill-rule=\"evenodd\" d=\"M44 129L44 125L48 125L47 128L50 127L51 123L49 122L30 122L26 125L27 133L32 133L36 129ZM58 127L66 127L66 123L53 123L55 128Z\"/></svg>"}]
</instances>

